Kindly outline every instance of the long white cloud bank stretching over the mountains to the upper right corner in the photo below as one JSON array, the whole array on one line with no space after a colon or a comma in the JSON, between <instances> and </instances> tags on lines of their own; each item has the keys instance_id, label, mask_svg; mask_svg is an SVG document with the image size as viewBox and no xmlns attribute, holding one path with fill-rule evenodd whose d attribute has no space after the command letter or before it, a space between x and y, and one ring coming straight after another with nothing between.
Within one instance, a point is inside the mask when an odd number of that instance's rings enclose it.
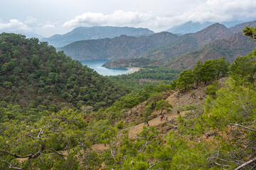
<instances>
[{"instance_id":1,"label":"long white cloud bank stretching over the mountains to the upper right corner","mask_svg":"<svg viewBox=\"0 0 256 170\"><path fill-rule=\"evenodd\" d=\"M169 13L168 16L158 16L152 12L117 10L111 14L82 13L63 24L64 27L78 26L134 26L154 30L171 28L187 21L193 22L225 22L245 21L255 19L256 1L251 0L208 0L198 4L196 8L186 11Z\"/></svg>"}]
</instances>

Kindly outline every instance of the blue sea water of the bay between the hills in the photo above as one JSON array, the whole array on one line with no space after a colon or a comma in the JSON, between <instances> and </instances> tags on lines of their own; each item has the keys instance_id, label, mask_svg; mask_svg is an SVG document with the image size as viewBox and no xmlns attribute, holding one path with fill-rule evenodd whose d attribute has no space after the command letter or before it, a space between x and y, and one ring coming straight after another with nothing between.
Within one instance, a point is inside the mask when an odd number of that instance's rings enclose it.
<instances>
[{"instance_id":1,"label":"blue sea water of the bay between the hills","mask_svg":"<svg viewBox=\"0 0 256 170\"><path fill-rule=\"evenodd\" d=\"M102 65L109 60L80 60L83 65L87 65L91 69L94 69L97 73L103 76L116 76L119 74L125 74L128 69L108 69L106 67L102 67Z\"/></svg>"}]
</instances>

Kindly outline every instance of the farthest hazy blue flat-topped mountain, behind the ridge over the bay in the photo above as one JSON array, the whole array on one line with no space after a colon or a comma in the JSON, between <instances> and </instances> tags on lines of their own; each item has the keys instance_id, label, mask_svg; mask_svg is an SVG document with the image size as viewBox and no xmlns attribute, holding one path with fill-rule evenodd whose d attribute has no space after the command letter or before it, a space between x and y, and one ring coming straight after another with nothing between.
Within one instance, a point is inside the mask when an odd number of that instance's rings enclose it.
<instances>
[{"instance_id":1,"label":"farthest hazy blue flat-topped mountain, behind the ridge over the bay","mask_svg":"<svg viewBox=\"0 0 256 170\"><path fill-rule=\"evenodd\" d=\"M115 38L120 35L142 36L151 35L154 31L147 28L130 27L112 27L112 26L94 26L78 27L64 35L53 35L50 38L43 38L43 41L49 42L55 47L63 47L78 40L95 40L101 38Z\"/></svg>"}]
</instances>

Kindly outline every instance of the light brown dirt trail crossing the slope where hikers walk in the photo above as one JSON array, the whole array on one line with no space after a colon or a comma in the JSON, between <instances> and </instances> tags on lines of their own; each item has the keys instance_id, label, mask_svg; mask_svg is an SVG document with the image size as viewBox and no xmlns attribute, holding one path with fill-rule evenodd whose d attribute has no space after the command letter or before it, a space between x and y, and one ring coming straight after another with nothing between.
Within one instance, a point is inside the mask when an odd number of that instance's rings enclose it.
<instances>
[{"instance_id":1,"label":"light brown dirt trail crossing the slope where hikers walk","mask_svg":"<svg viewBox=\"0 0 256 170\"><path fill-rule=\"evenodd\" d=\"M185 115L185 112L186 111L183 111L180 114ZM165 114L164 116L165 117L168 116L168 120L171 120L173 118L178 117L176 112L168 113L168 114ZM160 125L161 123L164 123L164 122L166 122L166 120L161 121L161 118L158 117L158 118L154 118L152 120L149 120L149 125L150 126L155 126L155 125ZM139 132L142 132L143 125L144 125L144 123L140 123L139 125L134 125L134 126L130 127L129 128L129 138L136 137L136 135ZM102 150L105 150L105 149L109 149L109 147L105 146L104 144L95 144L95 145L92 145L92 149L102 151Z\"/></svg>"}]
</instances>

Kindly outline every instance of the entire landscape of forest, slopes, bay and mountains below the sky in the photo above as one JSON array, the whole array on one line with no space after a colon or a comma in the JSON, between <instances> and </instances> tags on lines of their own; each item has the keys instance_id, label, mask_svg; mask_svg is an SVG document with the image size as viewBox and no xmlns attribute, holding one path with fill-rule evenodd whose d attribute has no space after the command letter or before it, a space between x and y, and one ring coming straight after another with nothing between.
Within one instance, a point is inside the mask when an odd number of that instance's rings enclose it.
<instances>
[{"instance_id":1,"label":"entire landscape of forest, slopes, bay and mountains below the sky","mask_svg":"<svg viewBox=\"0 0 256 170\"><path fill-rule=\"evenodd\" d=\"M255 25L1 33L0 169L255 169Z\"/></svg>"}]
</instances>

